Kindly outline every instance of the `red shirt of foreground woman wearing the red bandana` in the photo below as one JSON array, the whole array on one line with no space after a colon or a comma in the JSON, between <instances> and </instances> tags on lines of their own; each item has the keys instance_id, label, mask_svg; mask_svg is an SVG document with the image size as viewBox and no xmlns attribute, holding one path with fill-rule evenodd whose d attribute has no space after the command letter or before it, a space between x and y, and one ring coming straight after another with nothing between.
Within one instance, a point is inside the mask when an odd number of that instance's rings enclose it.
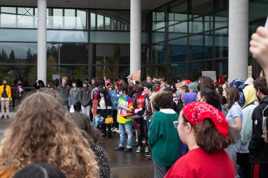
<instances>
[{"instance_id":1,"label":"red shirt of foreground woman wearing the red bandana","mask_svg":"<svg viewBox=\"0 0 268 178\"><path fill-rule=\"evenodd\" d=\"M235 166L225 150L209 155L196 148L182 156L164 178L226 178L235 177Z\"/></svg>"}]
</instances>

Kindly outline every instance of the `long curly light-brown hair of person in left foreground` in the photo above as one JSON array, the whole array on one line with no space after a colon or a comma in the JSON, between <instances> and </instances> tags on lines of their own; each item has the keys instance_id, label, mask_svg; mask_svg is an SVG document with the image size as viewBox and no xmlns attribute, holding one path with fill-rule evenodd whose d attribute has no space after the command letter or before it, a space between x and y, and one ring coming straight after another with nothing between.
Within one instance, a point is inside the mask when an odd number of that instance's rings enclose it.
<instances>
[{"instance_id":1,"label":"long curly light-brown hair of person in left foreground","mask_svg":"<svg viewBox=\"0 0 268 178\"><path fill-rule=\"evenodd\" d=\"M68 112L49 93L33 93L22 101L1 141L0 166L11 174L33 163L49 163L68 178L98 177L90 144Z\"/></svg>"}]
</instances>

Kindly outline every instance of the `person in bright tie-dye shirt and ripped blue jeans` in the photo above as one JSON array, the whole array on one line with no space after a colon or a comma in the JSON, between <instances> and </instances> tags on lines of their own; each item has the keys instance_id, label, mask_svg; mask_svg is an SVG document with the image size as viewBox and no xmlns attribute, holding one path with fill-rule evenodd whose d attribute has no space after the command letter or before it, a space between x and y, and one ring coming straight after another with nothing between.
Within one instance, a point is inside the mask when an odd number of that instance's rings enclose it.
<instances>
[{"instance_id":1,"label":"person in bright tie-dye shirt and ripped blue jeans","mask_svg":"<svg viewBox=\"0 0 268 178\"><path fill-rule=\"evenodd\" d=\"M127 149L125 149L124 151L130 152L132 151L132 141L133 141L133 133L132 133L133 119L125 119L123 116L132 115L133 101L129 96L127 96L128 94L127 85L122 86L120 90L123 93L123 96L121 96L118 100L118 123L119 123L120 141L119 141L119 147L115 148L114 150L124 150L124 144L127 133Z\"/></svg>"}]
</instances>

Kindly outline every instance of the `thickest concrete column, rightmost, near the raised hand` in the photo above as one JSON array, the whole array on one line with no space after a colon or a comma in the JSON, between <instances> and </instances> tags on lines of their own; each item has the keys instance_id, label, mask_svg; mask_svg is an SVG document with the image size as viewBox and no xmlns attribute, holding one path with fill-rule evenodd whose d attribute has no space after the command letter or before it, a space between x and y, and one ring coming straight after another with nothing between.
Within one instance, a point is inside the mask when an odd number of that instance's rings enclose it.
<instances>
[{"instance_id":1,"label":"thickest concrete column, rightmost, near the raised hand","mask_svg":"<svg viewBox=\"0 0 268 178\"><path fill-rule=\"evenodd\" d=\"M248 6L245 0L229 1L229 82L238 78L247 80Z\"/></svg>"}]
</instances>

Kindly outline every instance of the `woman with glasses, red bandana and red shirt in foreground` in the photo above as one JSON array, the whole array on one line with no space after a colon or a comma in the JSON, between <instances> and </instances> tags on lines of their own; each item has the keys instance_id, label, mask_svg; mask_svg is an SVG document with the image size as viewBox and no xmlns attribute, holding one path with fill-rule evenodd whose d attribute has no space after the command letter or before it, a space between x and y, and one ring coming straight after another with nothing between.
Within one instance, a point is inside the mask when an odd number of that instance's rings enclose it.
<instances>
[{"instance_id":1,"label":"woman with glasses, red bandana and red shirt in foreground","mask_svg":"<svg viewBox=\"0 0 268 178\"><path fill-rule=\"evenodd\" d=\"M176 161L165 178L235 176L235 166L224 150L234 141L233 130L218 109L207 103L188 103L174 127L189 152Z\"/></svg>"}]
</instances>

